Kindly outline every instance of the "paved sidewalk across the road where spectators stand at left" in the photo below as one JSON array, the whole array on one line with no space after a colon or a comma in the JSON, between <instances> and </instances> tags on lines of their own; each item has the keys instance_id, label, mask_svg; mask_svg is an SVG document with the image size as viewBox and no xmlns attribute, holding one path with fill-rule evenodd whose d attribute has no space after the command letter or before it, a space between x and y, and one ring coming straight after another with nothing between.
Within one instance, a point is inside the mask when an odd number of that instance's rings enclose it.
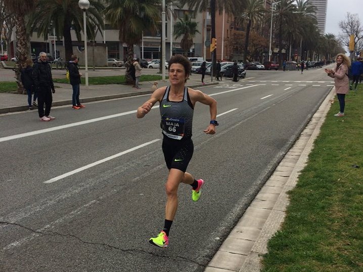
<instances>
[{"instance_id":1,"label":"paved sidewalk across the road where spectators stand at left","mask_svg":"<svg viewBox=\"0 0 363 272\"><path fill-rule=\"evenodd\" d=\"M108 100L122 97L131 97L144 94L151 94L151 87L154 81L140 82L141 89L132 88L131 85L109 84L109 85L85 85L80 86L80 102L87 103L91 101ZM206 77L205 85L202 85L201 75L192 74L187 81L187 86L197 88L200 86L218 84L218 81L211 82L210 76ZM159 80L158 87L166 86L169 80ZM53 106L72 106L72 86L70 84L55 83L56 93L53 95ZM0 114L17 111L27 111L27 95L13 93L0 93Z\"/></svg>"}]
</instances>

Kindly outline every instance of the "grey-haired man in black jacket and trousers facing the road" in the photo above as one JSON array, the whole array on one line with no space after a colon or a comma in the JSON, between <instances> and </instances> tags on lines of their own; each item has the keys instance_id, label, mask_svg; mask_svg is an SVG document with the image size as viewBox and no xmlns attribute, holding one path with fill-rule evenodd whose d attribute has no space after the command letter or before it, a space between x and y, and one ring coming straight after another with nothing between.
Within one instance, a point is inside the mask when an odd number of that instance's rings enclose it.
<instances>
[{"instance_id":1,"label":"grey-haired man in black jacket and trousers facing the road","mask_svg":"<svg viewBox=\"0 0 363 272\"><path fill-rule=\"evenodd\" d=\"M32 77L38 96L38 114L40 121L55 119L55 117L50 115L53 101L52 93L54 94L56 90L53 84L52 68L47 63L47 53L39 53L39 59L34 65ZM45 113L44 104L46 104Z\"/></svg>"}]
</instances>

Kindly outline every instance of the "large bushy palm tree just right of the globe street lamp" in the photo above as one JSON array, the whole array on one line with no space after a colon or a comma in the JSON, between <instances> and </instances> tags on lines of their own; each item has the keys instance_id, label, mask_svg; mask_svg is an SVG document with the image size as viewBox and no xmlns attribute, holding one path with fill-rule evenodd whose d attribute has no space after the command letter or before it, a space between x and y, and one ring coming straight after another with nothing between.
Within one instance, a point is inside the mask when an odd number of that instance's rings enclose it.
<instances>
[{"instance_id":1,"label":"large bushy palm tree just right of the globe street lamp","mask_svg":"<svg viewBox=\"0 0 363 272\"><path fill-rule=\"evenodd\" d=\"M160 0L109 0L105 19L119 30L119 39L127 43L127 60L133 59L133 45L140 43L144 30L157 31Z\"/></svg>"}]
</instances>

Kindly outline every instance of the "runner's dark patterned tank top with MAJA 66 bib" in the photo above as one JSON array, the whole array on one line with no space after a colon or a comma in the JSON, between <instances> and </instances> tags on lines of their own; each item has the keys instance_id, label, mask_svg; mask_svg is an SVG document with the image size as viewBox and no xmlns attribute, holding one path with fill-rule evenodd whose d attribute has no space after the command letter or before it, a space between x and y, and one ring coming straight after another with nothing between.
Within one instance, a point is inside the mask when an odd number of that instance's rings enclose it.
<instances>
[{"instance_id":1,"label":"runner's dark patterned tank top with MAJA 66 bib","mask_svg":"<svg viewBox=\"0 0 363 272\"><path fill-rule=\"evenodd\" d=\"M183 100L178 102L169 101L169 91L170 86L167 86L160 103L162 132L171 139L191 138L194 108L188 88L184 88Z\"/></svg>"}]
</instances>

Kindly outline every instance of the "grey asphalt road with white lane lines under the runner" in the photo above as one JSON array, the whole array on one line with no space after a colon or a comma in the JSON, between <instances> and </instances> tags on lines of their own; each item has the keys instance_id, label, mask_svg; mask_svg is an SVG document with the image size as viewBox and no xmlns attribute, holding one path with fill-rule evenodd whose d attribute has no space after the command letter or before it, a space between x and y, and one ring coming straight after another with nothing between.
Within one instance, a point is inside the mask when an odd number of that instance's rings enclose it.
<instances>
[{"instance_id":1,"label":"grey asphalt road with white lane lines under the runner","mask_svg":"<svg viewBox=\"0 0 363 272\"><path fill-rule=\"evenodd\" d=\"M263 78L263 79L262 79ZM203 271L331 89L323 70L250 71L201 87L220 125L203 133L197 104L188 171L204 178L199 202L180 185L169 247L148 243L164 222L167 169L158 108L149 96L0 115L1 271ZM113 157L112 157L113 156Z\"/></svg>"}]
</instances>

